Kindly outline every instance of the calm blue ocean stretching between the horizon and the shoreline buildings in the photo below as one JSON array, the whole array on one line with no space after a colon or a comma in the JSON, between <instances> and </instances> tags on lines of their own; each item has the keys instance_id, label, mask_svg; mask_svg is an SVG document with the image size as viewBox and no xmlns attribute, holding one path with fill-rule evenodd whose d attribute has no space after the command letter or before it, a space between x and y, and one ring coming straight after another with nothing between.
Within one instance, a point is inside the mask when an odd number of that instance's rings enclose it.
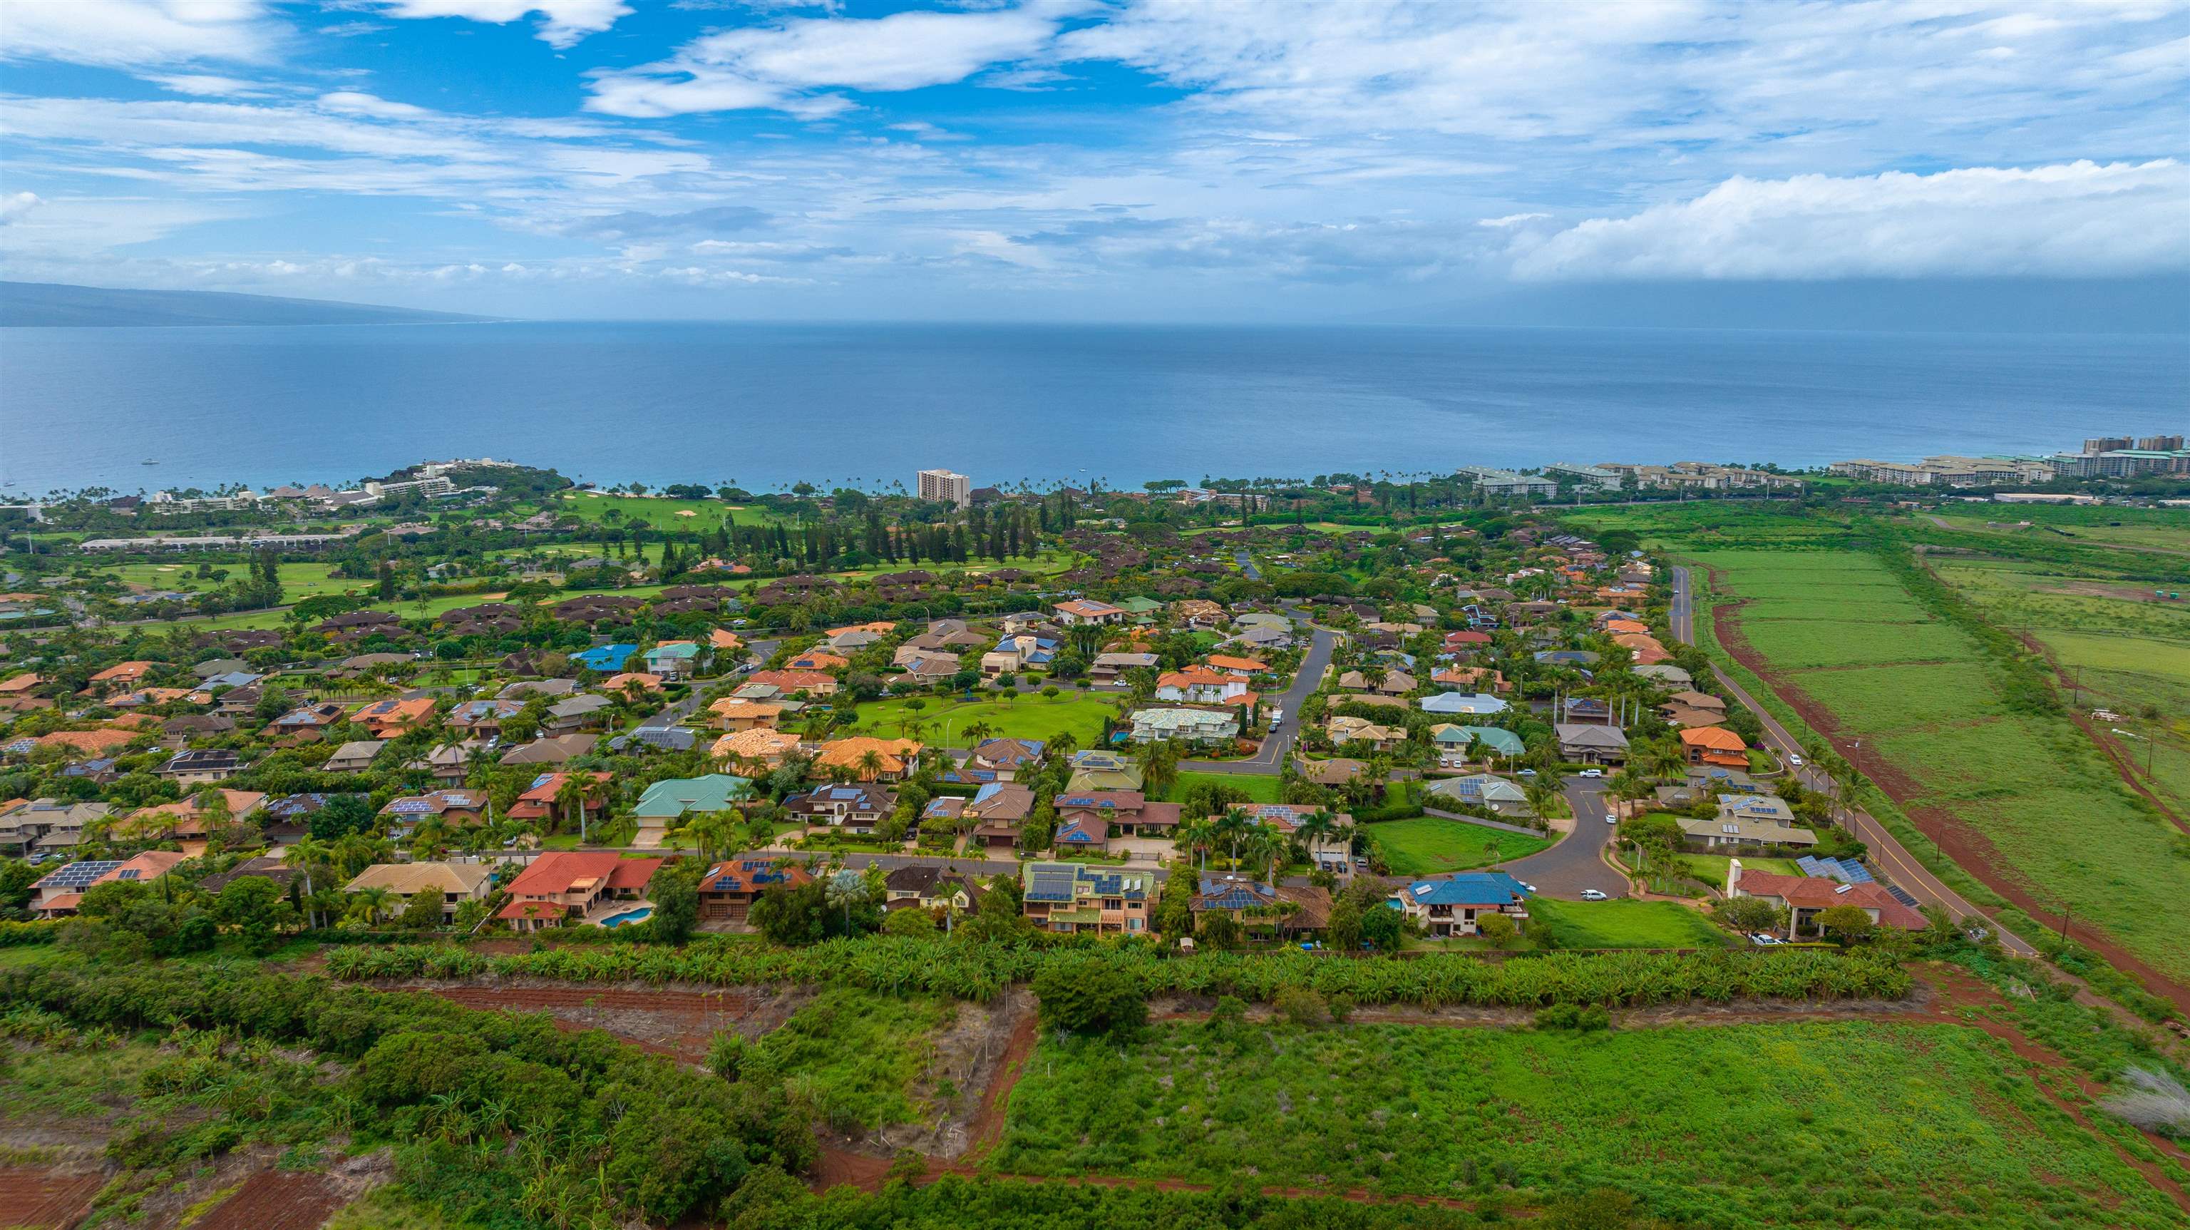
<instances>
[{"instance_id":1,"label":"calm blue ocean stretching between the horizon and the shoreline buildings","mask_svg":"<svg viewBox=\"0 0 2190 1230\"><path fill-rule=\"evenodd\" d=\"M2181 431L2179 335L979 324L0 330L0 490L911 484L2050 453ZM142 462L158 462L147 466Z\"/></svg>"}]
</instances>

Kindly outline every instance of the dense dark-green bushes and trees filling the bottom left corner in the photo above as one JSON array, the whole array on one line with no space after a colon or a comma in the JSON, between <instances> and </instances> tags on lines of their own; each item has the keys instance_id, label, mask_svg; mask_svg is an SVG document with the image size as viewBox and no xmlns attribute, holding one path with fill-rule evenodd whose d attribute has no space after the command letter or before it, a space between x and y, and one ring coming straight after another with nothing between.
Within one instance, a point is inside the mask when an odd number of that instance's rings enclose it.
<instances>
[{"instance_id":1,"label":"dense dark-green bushes and trees filling the bottom left corner","mask_svg":"<svg viewBox=\"0 0 2190 1230\"><path fill-rule=\"evenodd\" d=\"M353 1147L392 1145L399 1180L451 1219L528 1226L675 1221L753 1167L804 1169L815 1149L804 1103L764 1072L685 1072L543 1016L182 963L4 970L0 1000L72 1029L239 1042L237 1061L206 1044L145 1066L140 1096L151 1101L140 1105L153 1114L110 1145L127 1167L206 1158L254 1134L298 1147L342 1132ZM322 1081L311 1064L269 1064L272 1046L304 1046L346 1075ZM158 1114L173 1107L160 1096L226 1114Z\"/></svg>"}]
</instances>

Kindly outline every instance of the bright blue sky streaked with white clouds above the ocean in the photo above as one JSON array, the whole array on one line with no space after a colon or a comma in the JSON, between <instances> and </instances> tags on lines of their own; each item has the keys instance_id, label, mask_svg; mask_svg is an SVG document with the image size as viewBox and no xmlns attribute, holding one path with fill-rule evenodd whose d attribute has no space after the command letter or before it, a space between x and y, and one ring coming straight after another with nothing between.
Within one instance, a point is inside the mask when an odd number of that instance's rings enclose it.
<instances>
[{"instance_id":1,"label":"bright blue sky streaked with white clouds above the ocean","mask_svg":"<svg viewBox=\"0 0 2190 1230\"><path fill-rule=\"evenodd\" d=\"M18 280L1349 320L2190 269L2172 0L9 0Z\"/></svg>"}]
</instances>

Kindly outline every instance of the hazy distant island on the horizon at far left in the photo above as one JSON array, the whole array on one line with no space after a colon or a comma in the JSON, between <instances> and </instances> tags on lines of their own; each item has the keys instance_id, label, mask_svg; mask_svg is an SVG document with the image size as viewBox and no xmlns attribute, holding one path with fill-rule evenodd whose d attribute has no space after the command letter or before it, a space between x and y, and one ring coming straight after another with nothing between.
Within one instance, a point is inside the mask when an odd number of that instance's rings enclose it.
<instances>
[{"instance_id":1,"label":"hazy distant island on the horizon at far left","mask_svg":"<svg viewBox=\"0 0 2190 1230\"><path fill-rule=\"evenodd\" d=\"M447 324L488 320L449 311L285 300L228 291L116 291L61 282L0 282L4 328L123 328L169 324Z\"/></svg>"}]
</instances>

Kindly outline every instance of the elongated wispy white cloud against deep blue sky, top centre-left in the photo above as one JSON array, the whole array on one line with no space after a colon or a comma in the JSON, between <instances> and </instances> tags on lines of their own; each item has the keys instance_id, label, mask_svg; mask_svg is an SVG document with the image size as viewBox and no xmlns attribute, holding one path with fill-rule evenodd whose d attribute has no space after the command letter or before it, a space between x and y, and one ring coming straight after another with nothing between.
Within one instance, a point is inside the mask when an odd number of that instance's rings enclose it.
<instances>
[{"instance_id":1,"label":"elongated wispy white cloud against deep blue sky, top centre-left","mask_svg":"<svg viewBox=\"0 0 2190 1230\"><path fill-rule=\"evenodd\" d=\"M964 81L1038 53L1058 31L1045 9L891 13L876 20L802 18L699 37L675 57L596 74L587 109L618 116L784 109L841 112L815 90L920 90Z\"/></svg>"}]
</instances>

